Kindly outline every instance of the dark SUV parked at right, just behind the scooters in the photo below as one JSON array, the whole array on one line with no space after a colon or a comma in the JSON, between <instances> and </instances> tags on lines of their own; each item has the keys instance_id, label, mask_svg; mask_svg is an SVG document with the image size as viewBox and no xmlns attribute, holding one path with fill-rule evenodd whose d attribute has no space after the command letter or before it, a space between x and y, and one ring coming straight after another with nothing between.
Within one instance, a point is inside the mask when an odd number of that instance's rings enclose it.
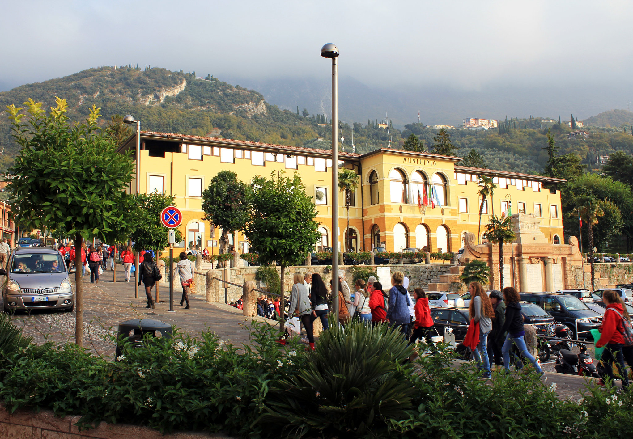
<instances>
[{"instance_id":1,"label":"dark SUV parked at right, just behind the scooters","mask_svg":"<svg viewBox=\"0 0 633 439\"><path fill-rule=\"evenodd\" d=\"M592 340L587 331L598 329L602 323L602 316L598 312L589 309L582 300L573 295L559 292L521 293L521 300L537 304L547 311L556 321L570 328L574 338ZM576 325L580 335L576 333Z\"/></svg>"}]
</instances>

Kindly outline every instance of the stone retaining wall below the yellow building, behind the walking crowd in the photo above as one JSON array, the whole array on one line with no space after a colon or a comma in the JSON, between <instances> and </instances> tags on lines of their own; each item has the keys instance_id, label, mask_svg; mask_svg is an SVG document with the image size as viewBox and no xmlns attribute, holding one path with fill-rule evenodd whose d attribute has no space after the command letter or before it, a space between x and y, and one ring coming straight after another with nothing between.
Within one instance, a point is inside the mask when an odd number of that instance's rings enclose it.
<instances>
[{"instance_id":1,"label":"stone retaining wall below the yellow building, behind the walking crowd","mask_svg":"<svg viewBox=\"0 0 633 439\"><path fill-rule=\"evenodd\" d=\"M451 265L448 264L407 264L407 265L361 265L363 268L376 268L376 267L389 267L391 273L394 271L402 271L405 276L410 278L409 290L413 290L413 288L424 288L425 290L429 288L429 283L433 281L437 281L439 275L449 275L451 270ZM235 267L229 268L230 273L230 282L237 283L239 285L243 285L244 282L253 280L255 281L255 272L258 267ZM354 275L349 269L350 266L341 266L340 269L345 270L345 280L349 284L349 287L353 288L354 283ZM223 277L223 269L218 269L218 273ZM318 273L323 277L323 281L327 287L330 285L330 279L332 279L332 273L330 270L326 268L324 265L313 265L313 266L292 266L287 267L285 272L285 291L289 292L292 288L292 275L299 271L299 273L306 273L306 271L310 271L311 273ZM327 273L326 273L327 271ZM277 272L280 273L280 267L277 266ZM218 277L220 277L218 276ZM197 276L200 277L200 276ZM199 280L201 281L201 280ZM263 287L258 281L258 288ZM204 283L201 283L204 285ZM222 282L220 282L220 297L224 297L224 286ZM391 288L391 285L383 285L383 288L388 289ZM201 291L202 293L202 291ZM234 287L230 285L229 287L229 302L234 302L239 299L242 295L242 289L238 287Z\"/></svg>"}]
</instances>

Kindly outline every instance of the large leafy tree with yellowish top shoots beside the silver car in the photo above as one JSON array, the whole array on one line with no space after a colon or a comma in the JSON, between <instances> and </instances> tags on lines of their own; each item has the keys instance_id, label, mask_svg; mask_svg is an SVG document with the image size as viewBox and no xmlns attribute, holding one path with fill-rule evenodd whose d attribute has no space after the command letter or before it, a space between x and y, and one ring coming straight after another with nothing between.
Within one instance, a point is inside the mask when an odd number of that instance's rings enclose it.
<instances>
[{"instance_id":1,"label":"large leafy tree with yellowish top shoots beside the silver car","mask_svg":"<svg viewBox=\"0 0 633 439\"><path fill-rule=\"evenodd\" d=\"M11 215L21 228L48 225L74 235L75 247L93 236L108 242L135 226L137 205L125 192L134 164L116 152L115 141L97 127L99 109L85 123L71 125L65 99L46 114L42 102L29 99L27 123L22 108L9 105L13 138L22 147L9 172ZM75 259L82 266L81 252ZM81 270L75 273L75 343L83 345L84 289Z\"/></svg>"}]
</instances>

